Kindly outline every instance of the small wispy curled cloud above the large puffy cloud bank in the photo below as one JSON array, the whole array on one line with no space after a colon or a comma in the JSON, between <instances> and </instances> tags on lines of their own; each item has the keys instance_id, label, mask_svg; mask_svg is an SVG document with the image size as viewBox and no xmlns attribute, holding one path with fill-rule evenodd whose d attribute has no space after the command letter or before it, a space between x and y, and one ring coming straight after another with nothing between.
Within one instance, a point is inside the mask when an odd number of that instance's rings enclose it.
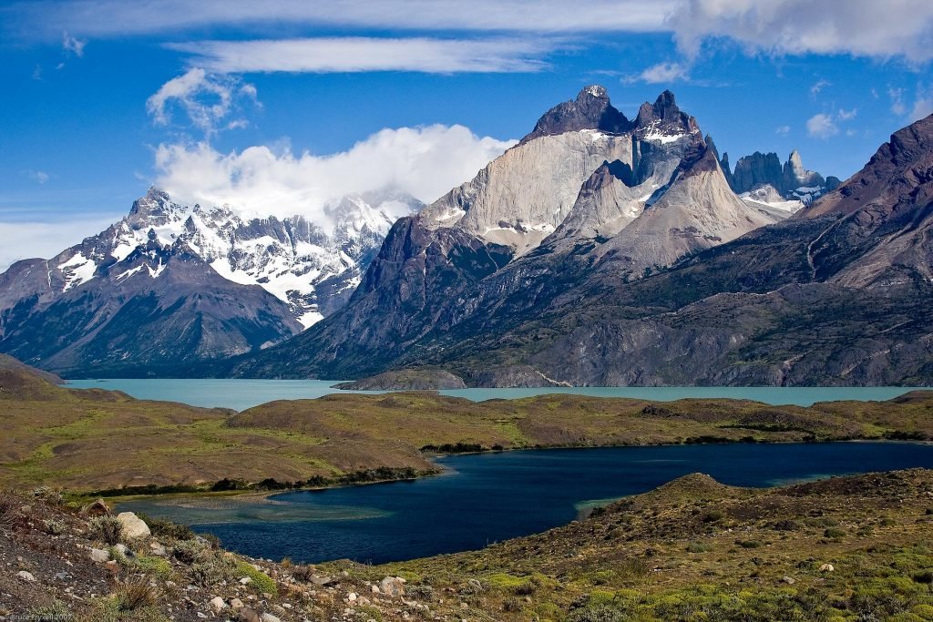
<instances>
[{"instance_id":1,"label":"small wispy curled cloud above the large puffy cloud bank","mask_svg":"<svg viewBox=\"0 0 933 622\"><path fill-rule=\"evenodd\" d=\"M202 68L195 67L163 84L146 100L146 111L157 124L168 125L172 120L172 107L178 106L196 128L211 136L218 127L245 127L246 120L242 118L220 126L240 96L257 102L256 87L242 84L230 76L211 76Z\"/></svg>"}]
</instances>

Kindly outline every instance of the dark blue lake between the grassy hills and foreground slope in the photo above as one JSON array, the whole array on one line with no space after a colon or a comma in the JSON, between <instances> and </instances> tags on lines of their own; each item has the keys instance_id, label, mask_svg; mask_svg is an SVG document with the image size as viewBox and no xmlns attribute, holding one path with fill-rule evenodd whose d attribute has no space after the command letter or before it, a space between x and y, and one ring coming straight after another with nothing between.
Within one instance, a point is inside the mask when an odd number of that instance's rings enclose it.
<instances>
[{"instance_id":1,"label":"dark blue lake between the grassy hills and foreground slope","mask_svg":"<svg viewBox=\"0 0 933 622\"><path fill-rule=\"evenodd\" d=\"M258 558L381 563L476 549L543 532L606 500L702 472L736 486L923 466L933 445L827 443L536 449L439 459L417 481L269 499L161 499L121 504L215 533Z\"/></svg>"}]
</instances>

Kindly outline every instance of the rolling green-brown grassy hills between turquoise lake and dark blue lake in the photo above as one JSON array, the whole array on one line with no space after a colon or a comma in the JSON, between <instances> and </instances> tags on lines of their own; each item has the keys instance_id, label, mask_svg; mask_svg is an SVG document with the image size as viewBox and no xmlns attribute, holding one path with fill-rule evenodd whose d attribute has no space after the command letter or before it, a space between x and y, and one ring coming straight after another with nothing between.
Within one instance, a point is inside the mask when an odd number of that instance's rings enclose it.
<instances>
[{"instance_id":1,"label":"rolling green-brown grassy hills between turquoise lake and dark blue lake","mask_svg":"<svg viewBox=\"0 0 933 622\"><path fill-rule=\"evenodd\" d=\"M235 413L65 389L29 371L0 369L0 483L71 491L222 479L327 483L429 471L431 450L923 439L933 438L931 408L928 393L812 408L561 394L474 403L399 393L327 395Z\"/></svg>"}]
</instances>

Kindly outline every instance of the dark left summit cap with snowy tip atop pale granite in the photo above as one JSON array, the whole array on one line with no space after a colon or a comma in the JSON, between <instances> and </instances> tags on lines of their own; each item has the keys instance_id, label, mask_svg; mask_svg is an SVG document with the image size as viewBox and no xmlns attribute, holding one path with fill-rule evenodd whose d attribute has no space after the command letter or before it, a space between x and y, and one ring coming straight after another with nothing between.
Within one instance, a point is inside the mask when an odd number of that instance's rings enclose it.
<instances>
[{"instance_id":1,"label":"dark left summit cap with snowy tip atop pale granite","mask_svg":"<svg viewBox=\"0 0 933 622\"><path fill-rule=\"evenodd\" d=\"M546 112L537 120L535 129L522 138L520 145L540 136L567 131L624 133L631 129L632 122L609 103L606 88L593 84L580 90L576 99L557 104Z\"/></svg>"}]
</instances>

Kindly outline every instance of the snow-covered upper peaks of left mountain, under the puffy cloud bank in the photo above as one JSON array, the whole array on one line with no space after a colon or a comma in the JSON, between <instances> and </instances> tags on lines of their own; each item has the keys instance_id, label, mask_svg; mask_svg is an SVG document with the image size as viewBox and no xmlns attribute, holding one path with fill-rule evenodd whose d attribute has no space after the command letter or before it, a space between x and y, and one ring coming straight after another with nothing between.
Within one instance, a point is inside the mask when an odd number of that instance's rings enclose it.
<instances>
[{"instance_id":1,"label":"snow-covered upper peaks of left mountain, under the puffy cloud bank","mask_svg":"<svg viewBox=\"0 0 933 622\"><path fill-rule=\"evenodd\" d=\"M389 228L420 207L409 195L383 190L332 202L323 223L301 215L246 220L229 206L184 207L150 188L107 236L109 255L120 261L149 240L180 242L228 281L259 285L287 303L307 328L342 306ZM68 267L91 273L91 262L81 260L69 259Z\"/></svg>"}]
</instances>

